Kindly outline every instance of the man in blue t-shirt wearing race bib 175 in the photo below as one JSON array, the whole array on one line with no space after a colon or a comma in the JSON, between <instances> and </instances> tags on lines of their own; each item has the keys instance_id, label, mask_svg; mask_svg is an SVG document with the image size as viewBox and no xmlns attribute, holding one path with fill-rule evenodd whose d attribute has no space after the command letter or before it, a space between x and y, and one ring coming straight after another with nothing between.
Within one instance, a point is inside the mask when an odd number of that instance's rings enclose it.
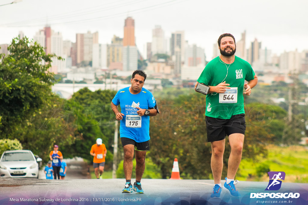
<instances>
[{"instance_id":1,"label":"man in blue t-shirt wearing race bib 175","mask_svg":"<svg viewBox=\"0 0 308 205\"><path fill-rule=\"evenodd\" d=\"M115 118L120 121L120 137L124 149L125 187L122 193L143 194L141 178L145 168L146 151L150 149L149 124L150 116L159 113L156 100L152 93L143 88L147 75L142 70L132 74L132 86L120 89L111 102ZM121 111L118 110L118 105ZM136 150L136 182L132 187L134 149Z\"/></svg>"}]
</instances>

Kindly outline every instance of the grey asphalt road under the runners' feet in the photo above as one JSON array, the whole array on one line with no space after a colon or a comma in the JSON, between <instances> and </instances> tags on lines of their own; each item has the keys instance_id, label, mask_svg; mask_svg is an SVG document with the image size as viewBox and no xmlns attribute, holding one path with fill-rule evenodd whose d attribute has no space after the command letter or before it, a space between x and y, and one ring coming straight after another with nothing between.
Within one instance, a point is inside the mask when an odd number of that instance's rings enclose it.
<instances>
[{"instance_id":1,"label":"grey asphalt road under the runners' feet","mask_svg":"<svg viewBox=\"0 0 308 205\"><path fill-rule=\"evenodd\" d=\"M65 180L1 178L0 204L276 204L271 203L269 197L250 198L251 193L258 192L300 193L297 199L274 200L287 205L308 204L308 184L285 182L278 191L264 191L268 182L240 181L236 185L241 193L238 199L231 198L225 191L221 199L210 199L213 180L142 179L144 194L122 194L125 179L87 179L87 164L78 160L66 162ZM257 200L269 200L270 203L258 203Z\"/></svg>"}]
</instances>

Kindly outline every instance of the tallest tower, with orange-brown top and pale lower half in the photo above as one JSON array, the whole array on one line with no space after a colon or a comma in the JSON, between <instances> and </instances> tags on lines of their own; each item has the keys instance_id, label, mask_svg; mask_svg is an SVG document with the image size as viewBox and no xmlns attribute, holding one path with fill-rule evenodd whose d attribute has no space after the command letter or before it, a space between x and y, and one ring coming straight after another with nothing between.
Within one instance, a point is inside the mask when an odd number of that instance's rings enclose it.
<instances>
[{"instance_id":1,"label":"tallest tower, with orange-brown top and pale lower half","mask_svg":"<svg viewBox=\"0 0 308 205\"><path fill-rule=\"evenodd\" d=\"M138 53L135 43L135 20L132 17L125 19L123 37L123 70L138 68Z\"/></svg>"}]
</instances>

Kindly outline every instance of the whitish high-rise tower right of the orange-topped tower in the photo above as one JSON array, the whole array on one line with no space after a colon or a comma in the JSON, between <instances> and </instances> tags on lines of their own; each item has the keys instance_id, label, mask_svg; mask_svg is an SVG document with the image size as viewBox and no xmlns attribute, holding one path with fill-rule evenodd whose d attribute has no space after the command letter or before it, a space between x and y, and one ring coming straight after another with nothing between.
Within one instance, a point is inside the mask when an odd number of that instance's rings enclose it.
<instances>
[{"instance_id":1,"label":"whitish high-rise tower right of the orange-topped tower","mask_svg":"<svg viewBox=\"0 0 308 205\"><path fill-rule=\"evenodd\" d=\"M161 26L155 26L152 30L152 55L156 53L166 53L166 42L164 37L164 30Z\"/></svg>"}]
</instances>

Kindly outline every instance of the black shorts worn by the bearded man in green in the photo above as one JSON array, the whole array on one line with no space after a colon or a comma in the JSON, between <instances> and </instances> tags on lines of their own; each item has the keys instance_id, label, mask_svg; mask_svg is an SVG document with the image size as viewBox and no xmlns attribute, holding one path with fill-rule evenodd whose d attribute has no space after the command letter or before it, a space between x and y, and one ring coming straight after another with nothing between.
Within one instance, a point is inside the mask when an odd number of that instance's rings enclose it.
<instances>
[{"instance_id":1,"label":"black shorts worn by the bearded man in green","mask_svg":"<svg viewBox=\"0 0 308 205\"><path fill-rule=\"evenodd\" d=\"M208 142L220 141L234 133L245 135L245 114L231 116L230 119L220 119L205 116Z\"/></svg>"}]
</instances>

